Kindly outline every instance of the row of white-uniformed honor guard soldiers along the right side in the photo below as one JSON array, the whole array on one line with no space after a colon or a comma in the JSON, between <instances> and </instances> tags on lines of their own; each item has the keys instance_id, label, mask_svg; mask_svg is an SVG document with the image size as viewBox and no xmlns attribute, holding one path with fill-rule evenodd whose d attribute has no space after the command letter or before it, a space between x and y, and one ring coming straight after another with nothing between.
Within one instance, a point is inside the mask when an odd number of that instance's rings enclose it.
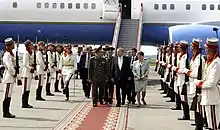
<instances>
[{"instance_id":1,"label":"row of white-uniformed honor guard soldiers along the right side","mask_svg":"<svg viewBox=\"0 0 220 130\"><path fill-rule=\"evenodd\" d=\"M158 50L155 71L161 75L161 89L167 102L175 102L172 110L183 109L178 120L190 120L194 111L195 130L217 130L220 121L220 60L219 40L207 38L206 55L202 55L202 41L179 41L161 46ZM189 49L191 48L191 50ZM189 52L192 57L189 57Z\"/></svg>"}]
</instances>

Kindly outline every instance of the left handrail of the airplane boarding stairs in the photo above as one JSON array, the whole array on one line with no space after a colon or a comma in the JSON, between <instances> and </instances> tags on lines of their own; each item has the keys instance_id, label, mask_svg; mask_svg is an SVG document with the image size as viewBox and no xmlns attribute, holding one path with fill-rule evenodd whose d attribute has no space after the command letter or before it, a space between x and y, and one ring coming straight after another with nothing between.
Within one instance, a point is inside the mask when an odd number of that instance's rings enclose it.
<instances>
[{"instance_id":1,"label":"left handrail of the airplane boarding stairs","mask_svg":"<svg viewBox=\"0 0 220 130\"><path fill-rule=\"evenodd\" d=\"M116 18L116 22L115 22L115 29L114 29L114 35L113 35L113 40L112 40L112 47L115 48L114 50L114 54L116 54L116 49L118 46L118 36L119 36L119 31L120 31L120 26L121 26L121 12L122 12L122 8L121 8L121 3L119 4L118 7L118 15Z\"/></svg>"}]
</instances>

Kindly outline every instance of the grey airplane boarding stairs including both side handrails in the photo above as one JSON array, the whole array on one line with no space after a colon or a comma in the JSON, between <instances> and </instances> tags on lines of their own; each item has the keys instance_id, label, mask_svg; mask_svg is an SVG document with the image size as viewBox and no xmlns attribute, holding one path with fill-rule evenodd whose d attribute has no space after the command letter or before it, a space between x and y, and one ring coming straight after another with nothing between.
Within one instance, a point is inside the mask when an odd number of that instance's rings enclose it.
<instances>
[{"instance_id":1,"label":"grey airplane boarding stairs including both side handrails","mask_svg":"<svg viewBox=\"0 0 220 130\"><path fill-rule=\"evenodd\" d=\"M120 9L121 11L121 9ZM121 12L119 11L119 16ZM115 48L122 47L125 52L131 48L140 50L143 27L143 5L141 4L139 19L121 19L118 17L115 24L112 45Z\"/></svg>"}]
</instances>

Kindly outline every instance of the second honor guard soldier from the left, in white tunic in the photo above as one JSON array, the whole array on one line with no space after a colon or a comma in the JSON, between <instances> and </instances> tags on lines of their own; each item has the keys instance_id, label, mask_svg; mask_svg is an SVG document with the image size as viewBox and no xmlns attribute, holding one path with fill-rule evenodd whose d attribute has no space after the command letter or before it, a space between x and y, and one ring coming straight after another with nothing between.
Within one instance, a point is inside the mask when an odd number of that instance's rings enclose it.
<instances>
[{"instance_id":1,"label":"second honor guard soldier from the left, in white tunic","mask_svg":"<svg viewBox=\"0 0 220 130\"><path fill-rule=\"evenodd\" d=\"M33 108L33 106L28 104L31 81L33 79L34 69L34 54L33 54L33 44L30 40L24 42L26 51L23 54L23 69L22 77L24 80L24 88L22 94L22 108Z\"/></svg>"}]
</instances>

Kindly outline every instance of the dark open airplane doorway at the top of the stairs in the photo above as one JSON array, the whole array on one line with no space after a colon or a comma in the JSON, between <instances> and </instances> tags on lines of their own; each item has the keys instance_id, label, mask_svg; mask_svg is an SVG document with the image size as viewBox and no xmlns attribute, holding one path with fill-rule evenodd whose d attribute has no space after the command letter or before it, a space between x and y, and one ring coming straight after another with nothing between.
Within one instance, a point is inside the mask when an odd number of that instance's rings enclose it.
<instances>
[{"instance_id":1,"label":"dark open airplane doorway at the top of the stairs","mask_svg":"<svg viewBox=\"0 0 220 130\"><path fill-rule=\"evenodd\" d=\"M122 4L122 18L131 19L131 0L119 0Z\"/></svg>"}]
</instances>

